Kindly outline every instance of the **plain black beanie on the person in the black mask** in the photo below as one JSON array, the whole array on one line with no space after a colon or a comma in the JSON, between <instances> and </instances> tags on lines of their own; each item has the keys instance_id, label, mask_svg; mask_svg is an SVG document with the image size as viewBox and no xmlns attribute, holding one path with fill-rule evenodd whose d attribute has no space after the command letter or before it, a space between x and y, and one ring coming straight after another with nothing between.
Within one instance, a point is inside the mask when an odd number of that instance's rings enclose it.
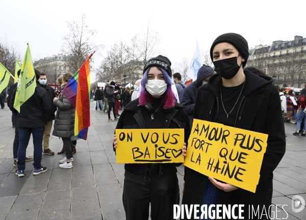
<instances>
[{"instance_id":1,"label":"plain black beanie on the person in the black mask","mask_svg":"<svg viewBox=\"0 0 306 220\"><path fill-rule=\"evenodd\" d=\"M213 42L211 50L210 50L210 56L212 61L214 60L213 58L213 49L214 47L218 44L218 43L230 43L233 46L236 47L236 49L239 51L239 53L241 54L241 57L244 58L244 62L242 63L242 67L245 66L249 53L248 53L248 44L247 41L244 39L244 37L242 37L239 34L235 34L235 33L227 33L227 34L222 34L219 37L216 38L216 40Z\"/></svg>"}]
</instances>

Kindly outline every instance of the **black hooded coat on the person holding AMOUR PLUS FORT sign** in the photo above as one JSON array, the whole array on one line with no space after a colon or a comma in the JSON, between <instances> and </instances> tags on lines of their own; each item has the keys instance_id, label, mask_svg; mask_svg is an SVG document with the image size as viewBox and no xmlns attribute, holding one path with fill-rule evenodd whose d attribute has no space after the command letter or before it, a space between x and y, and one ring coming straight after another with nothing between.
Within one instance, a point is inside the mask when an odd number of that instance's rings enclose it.
<instances>
[{"instance_id":1,"label":"black hooded coat on the person holding AMOUR PLUS FORT sign","mask_svg":"<svg viewBox=\"0 0 306 220\"><path fill-rule=\"evenodd\" d=\"M285 128L281 112L281 102L272 78L258 76L244 71L246 76L242 100L236 117L235 127L268 134L267 149L260 171L256 193L244 189L229 193L218 189L217 204L245 204L257 207L263 205L268 210L272 200L273 171L286 151ZM220 87L222 78L214 75L206 86L198 89L194 118L215 122L222 104ZM188 149L187 149L188 153ZM208 177L185 167L185 190L182 204L201 204ZM245 214L247 211L245 210ZM192 218L193 219L193 218Z\"/></svg>"}]
</instances>

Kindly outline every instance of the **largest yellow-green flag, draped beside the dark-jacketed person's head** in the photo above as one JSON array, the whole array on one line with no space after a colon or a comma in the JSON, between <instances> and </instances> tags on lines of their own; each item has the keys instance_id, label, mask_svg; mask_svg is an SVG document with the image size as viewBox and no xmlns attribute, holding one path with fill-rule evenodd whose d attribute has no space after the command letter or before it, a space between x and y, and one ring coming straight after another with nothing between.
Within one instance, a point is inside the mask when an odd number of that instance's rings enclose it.
<instances>
[{"instance_id":1,"label":"largest yellow-green flag, draped beside the dark-jacketed person's head","mask_svg":"<svg viewBox=\"0 0 306 220\"><path fill-rule=\"evenodd\" d=\"M21 72L18 79L18 86L14 101L14 108L20 113L20 106L27 101L35 92L36 77L32 62L30 47L28 44L25 52Z\"/></svg>"}]
</instances>

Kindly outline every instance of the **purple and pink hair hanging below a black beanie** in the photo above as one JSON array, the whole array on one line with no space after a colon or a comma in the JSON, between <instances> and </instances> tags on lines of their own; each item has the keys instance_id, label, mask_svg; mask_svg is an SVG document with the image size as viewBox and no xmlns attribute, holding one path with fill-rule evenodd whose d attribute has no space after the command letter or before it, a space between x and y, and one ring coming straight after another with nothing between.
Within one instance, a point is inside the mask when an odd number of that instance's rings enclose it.
<instances>
[{"instance_id":1,"label":"purple and pink hair hanging below a black beanie","mask_svg":"<svg viewBox=\"0 0 306 220\"><path fill-rule=\"evenodd\" d=\"M171 89L171 77L168 75L168 73L162 69L157 67L159 70L161 70L164 74L164 79L165 82L167 84L167 90L166 92L162 95L162 104L164 104L165 108L171 108L175 105L175 95ZM141 79L141 91L140 91L140 95L139 95L139 106L144 106L147 102L149 102L150 104L152 104L152 96L151 94L146 90L145 85L148 82L148 72L149 72L150 68L147 69Z\"/></svg>"}]
</instances>

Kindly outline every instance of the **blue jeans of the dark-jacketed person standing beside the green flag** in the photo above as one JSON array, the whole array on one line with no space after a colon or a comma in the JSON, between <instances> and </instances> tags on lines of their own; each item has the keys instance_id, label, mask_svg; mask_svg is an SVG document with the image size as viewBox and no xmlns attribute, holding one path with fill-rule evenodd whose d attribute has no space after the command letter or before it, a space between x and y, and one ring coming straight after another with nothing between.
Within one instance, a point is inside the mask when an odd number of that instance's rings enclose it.
<instances>
[{"instance_id":1,"label":"blue jeans of the dark-jacketed person standing beside the green flag","mask_svg":"<svg viewBox=\"0 0 306 220\"><path fill-rule=\"evenodd\" d=\"M18 170L25 169L25 153L29 144L30 136L32 133L34 144L34 162L35 169L41 168L41 155L42 155L42 139L44 126L39 128L18 128L19 131L19 148L18 148Z\"/></svg>"}]
</instances>

